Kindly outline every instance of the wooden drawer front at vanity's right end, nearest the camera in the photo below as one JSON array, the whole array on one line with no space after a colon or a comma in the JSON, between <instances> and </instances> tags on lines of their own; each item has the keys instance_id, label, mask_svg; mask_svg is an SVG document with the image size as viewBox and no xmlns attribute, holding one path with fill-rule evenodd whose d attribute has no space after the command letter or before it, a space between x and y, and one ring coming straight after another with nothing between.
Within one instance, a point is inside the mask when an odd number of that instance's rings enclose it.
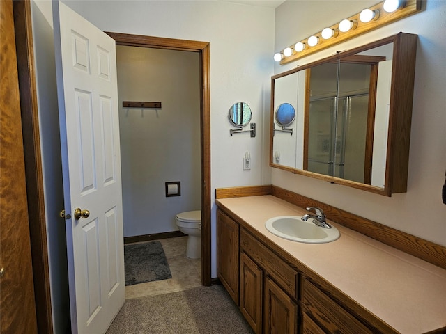
<instances>
[{"instance_id":1,"label":"wooden drawer front at vanity's right end, nearest the camera","mask_svg":"<svg viewBox=\"0 0 446 334\"><path fill-rule=\"evenodd\" d=\"M303 285L303 311L325 328L325 331L345 334L374 333L308 280L303 280Z\"/></svg>"}]
</instances>

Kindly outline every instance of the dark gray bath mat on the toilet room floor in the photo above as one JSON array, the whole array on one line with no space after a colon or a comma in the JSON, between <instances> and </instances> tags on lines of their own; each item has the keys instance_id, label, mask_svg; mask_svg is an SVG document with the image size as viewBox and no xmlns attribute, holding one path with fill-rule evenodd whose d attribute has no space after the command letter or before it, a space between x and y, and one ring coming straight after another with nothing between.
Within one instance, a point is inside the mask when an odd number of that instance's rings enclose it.
<instances>
[{"instance_id":1,"label":"dark gray bath mat on the toilet room floor","mask_svg":"<svg viewBox=\"0 0 446 334\"><path fill-rule=\"evenodd\" d=\"M172 278L160 241L125 245L124 266L125 285Z\"/></svg>"}]
</instances>

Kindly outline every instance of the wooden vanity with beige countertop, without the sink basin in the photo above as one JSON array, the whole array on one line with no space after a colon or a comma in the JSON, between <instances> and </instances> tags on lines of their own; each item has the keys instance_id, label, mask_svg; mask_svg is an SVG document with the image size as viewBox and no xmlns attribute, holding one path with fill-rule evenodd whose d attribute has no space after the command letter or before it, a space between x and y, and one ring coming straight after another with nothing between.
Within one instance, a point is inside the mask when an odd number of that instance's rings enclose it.
<instances>
[{"instance_id":1,"label":"wooden vanity with beige countertop, without the sink basin","mask_svg":"<svg viewBox=\"0 0 446 334\"><path fill-rule=\"evenodd\" d=\"M281 199L293 199L286 201L285 208L277 197L261 196L259 189L255 191L249 188L246 195L255 198L238 199L236 197L243 193L233 190L229 193L225 190L220 193L222 198L216 200L218 276L255 333L397 334L408 332L408 328L420 328L417 333L446 334L444 323L441 322L443 314L438 311L443 310L443 300L437 298L443 296L443 285L438 280L438 277L443 278L443 269L432 268L420 260L401 257L401 254L394 253L388 246L381 248L376 242L360 236L357 238L356 232L345 229L344 237L335 241L339 243L337 245L305 245L277 239L264 228L269 214L263 212L287 215L291 211L288 209L289 203L295 201L312 205L313 200L292 197L291 193L284 192L281 193ZM337 210L332 207L332 211ZM348 213L346 217L349 221L355 218ZM373 224L370 221L364 223L364 226L371 227ZM390 234L385 235L390 237ZM363 267L362 262L350 264L349 257L345 260L339 257L345 252L363 250L362 256L367 260L364 266L367 267ZM321 256L338 251L339 264L330 263L330 256L326 259ZM375 255L380 256L382 266L369 264ZM391 264L397 266L397 269L390 270L389 280L382 283L382 289L380 282L380 287L376 288L378 283L374 280L379 278L378 275L364 279L361 276L360 270L363 268L367 271L383 271ZM329 267L323 267L325 265ZM351 265L353 267L349 267ZM400 266L403 270L399 270ZM357 274L355 271L358 271ZM406 273L420 277L409 277L408 284L400 286L399 282L406 279ZM350 286L342 282L342 277L346 275L352 275L348 276ZM411 292L411 287L420 286L421 289L423 284L437 289L426 289L426 296L420 295L418 290ZM394 290L394 287L398 289ZM435 296L437 290L438 296ZM379 310L371 306L376 303L380 303ZM426 307L417 308L420 303ZM395 310L392 305L401 305L401 310ZM432 328L433 324L438 323L440 326ZM415 333L416 329L412 332Z\"/></svg>"}]
</instances>

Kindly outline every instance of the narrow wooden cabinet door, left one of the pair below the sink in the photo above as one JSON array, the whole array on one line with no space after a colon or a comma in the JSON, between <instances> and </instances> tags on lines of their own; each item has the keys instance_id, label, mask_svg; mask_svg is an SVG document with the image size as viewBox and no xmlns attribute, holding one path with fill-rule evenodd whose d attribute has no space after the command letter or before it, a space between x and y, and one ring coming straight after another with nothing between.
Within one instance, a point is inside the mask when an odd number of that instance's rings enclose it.
<instances>
[{"instance_id":1,"label":"narrow wooden cabinet door, left one of the pair below the sink","mask_svg":"<svg viewBox=\"0 0 446 334\"><path fill-rule=\"evenodd\" d=\"M262 333L263 271L245 254L240 255L240 311L256 333Z\"/></svg>"}]
</instances>

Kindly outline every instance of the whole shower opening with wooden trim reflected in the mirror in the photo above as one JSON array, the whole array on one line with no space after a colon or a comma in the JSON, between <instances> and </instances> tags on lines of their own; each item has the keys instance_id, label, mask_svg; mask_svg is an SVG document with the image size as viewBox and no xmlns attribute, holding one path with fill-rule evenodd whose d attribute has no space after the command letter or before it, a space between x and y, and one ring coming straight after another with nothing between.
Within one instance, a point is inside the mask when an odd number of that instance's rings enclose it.
<instances>
[{"instance_id":1,"label":"whole shower opening with wooden trim reflected in the mirror","mask_svg":"<svg viewBox=\"0 0 446 334\"><path fill-rule=\"evenodd\" d=\"M355 55L307 70L305 170L371 184L374 92L383 60Z\"/></svg>"}]
</instances>

